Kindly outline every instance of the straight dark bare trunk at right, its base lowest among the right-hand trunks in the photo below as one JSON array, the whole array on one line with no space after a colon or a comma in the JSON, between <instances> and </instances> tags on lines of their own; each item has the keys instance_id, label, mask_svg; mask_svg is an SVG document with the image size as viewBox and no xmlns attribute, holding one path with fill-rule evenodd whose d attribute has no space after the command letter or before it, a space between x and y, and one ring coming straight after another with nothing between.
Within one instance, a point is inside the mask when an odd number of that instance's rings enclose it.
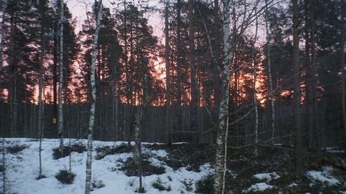
<instances>
[{"instance_id":1,"label":"straight dark bare trunk at right, its base lowest among the right-hand trunks","mask_svg":"<svg viewBox=\"0 0 346 194\"><path fill-rule=\"evenodd\" d=\"M302 141L300 127L300 64L299 64L299 10L298 0L293 3L293 108L295 119L295 168L298 174L302 174Z\"/></svg>"}]
</instances>

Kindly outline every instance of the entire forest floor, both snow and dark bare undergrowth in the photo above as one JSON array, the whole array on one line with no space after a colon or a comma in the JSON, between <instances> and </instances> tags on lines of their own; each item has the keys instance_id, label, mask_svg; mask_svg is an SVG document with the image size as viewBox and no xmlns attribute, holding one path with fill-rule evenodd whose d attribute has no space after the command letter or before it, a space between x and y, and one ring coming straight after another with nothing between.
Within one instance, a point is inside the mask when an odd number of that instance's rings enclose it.
<instances>
[{"instance_id":1,"label":"entire forest floor, both snow and dark bare undergrowth","mask_svg":"<svg viewBox=\"0 0 346 194\"><path fill-rule=\"evenodd\" d=\"M2 141L2 140L1 140ZM64 139L64 155L57 152L59 139L43 139L42 173L39 174L37 139L6 138L6 193L84 193L86 140ZM93 191L91 193L136 193L138 177L134 142L94 141ZM343 151L304 152L304 173L293 173L294 152L284 146L228 149L227 193L343 193L346 194L346 155ZM193 151L193 152L192 152ZM69 171L74 176L66 176ZM3 153L2 146L0 153ZM2 157L1 157L2 158ZM0 172L4 168L0 158ZM143 143L143 186L146 193L213 193L215 146L201 144ZM60 175L60 176L59 176ZM65 177L64 177L65 176ZM72 178L71 178L72 177ZM71 184L62 182L69 182ZM58 180L60 179L60 180ZM1 187L0 186L0 187ZM1 188L2 191L2 188Z\"/></svg>"}]
</instances>

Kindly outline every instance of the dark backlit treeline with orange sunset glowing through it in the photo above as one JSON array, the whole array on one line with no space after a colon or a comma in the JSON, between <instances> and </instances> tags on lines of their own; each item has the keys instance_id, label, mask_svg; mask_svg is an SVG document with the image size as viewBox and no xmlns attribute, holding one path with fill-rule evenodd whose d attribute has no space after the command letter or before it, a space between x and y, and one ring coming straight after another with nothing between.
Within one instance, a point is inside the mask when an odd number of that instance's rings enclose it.
<instances>
[{"instance_id":1,"label":"dark backlit treeline with orange sunset glowing through it","mask_svg":"<svg viewBox=\"0 0 346 194\"><path fill-rule=\"evenodd\" d=\"M89 104L91 44L97 6L93 6L91 12L86 13L87 19L82 24L82 29L75 34L76 21L67 6L64 6L64 21L60 21L59 3L60 1L46 0L32 3L8 0L1 3L1 99L10 106L1 108L6 136L21 134L17 133L23 126L19 110L27 109L20 106L28 107L28 104L38 101L41 66L44 68L42 99L45 104L50 104L48 106L53 106L44 110L45 117L51 117L47 119L51 128L46 130L52 130L49 137L55 137L53 134L57 133L62 23L62 101L66 110L69 106L77 106L76 104ZM260 115L265 114L265 117L260 116L265 118L260 130L289 130L293 126L285 125L285 122L290 120L289 117L293 117L293 112L284 113L287 118L284 119L280 116L283 112L280 107L285 111L290 110L289 107L293 108L291 3L231 3L234 9L233 15L230 15L233 23L233 26L230 26L230 41L236 43L230 67L229 87L229 110L236 113L231 115L231 120L242 117L242 113L237 110L243 110L244 107L246 110L253 110L250 105L258 104L260 106L256 108L262 109ZM220 70L224 65L224 32L221 28L223 16L220 10L222 6L219 6L218 1L194 1L192 4L176 1L163 3L163 6L165 9L159 11L166 17L166 48L161 45L158 37L153 35L152 27L148 25L145 15L153 12L153 9L145 3L136 5L131 1L122 1L116 7L102 10L95 83L96 104L104 104L97 105L98 111L111 111L111 115L98 118L100 122L104 119L111 122L111 126L107 125L104 130L130 130L133 122L133 112L130 109L142 103L141 83L145 72L149 75L149 104L168 104L166 118L161 117L161 125L167 124L167 132L210 131L218 122ZM300 117L309 146L316 142L321 146L320 141L324 137L320 136L323 133L332 131L336 136L342 133L341 6L340 1L299 2L299 74L302 95ZM257 12L248 15L251 17L248 21L244 13L246 9L249 13ZM165 81L160 78L161 72L154 68L156 61L167 62ZM143 68L144 66L147 68ZM165 82L169 84L165 86ZM127 108L120 110L120 106ZM37 114L32 111L34 110L26 112L28 117ZM66 114L69 114L68 111ZM197 122L201 123L201 117L197 115L201 114L208 116L203 124L199 125ZM186 118L186 115L190 118L188 124L170 122L173 117L179 121L182 117ZM253 116L230 126L239 137L248 133L243 127L244 123L255 123L255 110L249 115ZM206 121L208 124L204 124ZM237 139L235 142L244 140Z\"/></svg>"}]
</instances>

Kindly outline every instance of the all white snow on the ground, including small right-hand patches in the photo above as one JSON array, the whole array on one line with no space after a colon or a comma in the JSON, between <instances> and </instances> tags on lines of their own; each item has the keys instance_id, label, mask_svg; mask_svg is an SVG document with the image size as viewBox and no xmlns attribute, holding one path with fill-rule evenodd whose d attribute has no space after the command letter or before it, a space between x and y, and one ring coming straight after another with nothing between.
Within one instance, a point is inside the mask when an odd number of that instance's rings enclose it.
<instances>
[{"instance_id":1,"label":"all white snow on the ground, including small right-hand patches","mask_svg":"<svg viewBox=\"0 0 346 194\"><path fill-rule=\"evenodd\" d=\"M69 144L69 139L65 139L65 144ZM71 139L72 144L86 145L85 139ZM110 146L112 148L120 146L125 142L100 142L94 141L93 148L101 148ZM71 168L72 172L76 175L73 184L62 184L55 178L55 175L60 170L69 169L69 157L62 157L60 159L53 159L53 148L59 145L59 139L43 139L42 142L42 171L46 178L37 180L39 175L39 142L37 139L28 138L8 138L5 142L6 150L15 145L26 146L24 150L18 153L6 153L6 188L7 193L17 194L74 194L84 193L85 186L85 162L86 151L83 153L71 153ZM132 142L132 144L134 144ZM149 144L149 143L143 143ZM148 145L149 146L149 145ZM155 147L154 145L150 145ZM160 147L160 146L156 146ZM2 150L2 146L0 146ZM2 151L0 151L2 153ZM92 166L92 179L95 183L102 183L104 186L101 188L93 188L91 193L102 194L127 194L135 193L138 189L138 177L127 176L120 168L129 157L134 157L134 154L128 151L122 151L113 155L105 155L102 159L95 159L98 153L93 151L93 166ZM214 173L210 163L201 163L200 171L195 172L186 167L181 167L176 170L167 166L165 158L170 158L171 155L162 149L143 146L143 155L147 155L147 160L154 166L163 166L165 173L161 175L148 175L143 177L143 186L146 193L195 193L196 184L203 177ZM180 156L179 156L180 157ZM1 162L1 158L0 158ZM0 163L0 166L2 164ZM268 168L270 169L270 168ZM190 170L190 171L189 171ZM228 173L237 180L237 173L235 170L228 169ZM270 172L270 173L268 173ZM256 193L266 192L271 189L277 188L272 180L282 178L286 173L264 171L264 173L249 174L253 182L243 187L238 193ZM249 177L249 179L251 179ZM322 171L307 171L307 177L311 180L311 185L315 182L322 182L326 185L344 185L343 180L337 179L333 176L333 168L325 166ZM2 176L0 177L1 180ZM240 180L241 181L241 180ZM164 188L170 188L164 191L158 191L154 188L153 183L160 183ZM1 183L2 184L2 180ZM289 188L299 187L299 182L291 182L287 184ZM0 185L1 187L1 185ZM340 191L346 193L346 191ZM304 192L305 193L305 192Z\"/></svg>"}]
</instances>

